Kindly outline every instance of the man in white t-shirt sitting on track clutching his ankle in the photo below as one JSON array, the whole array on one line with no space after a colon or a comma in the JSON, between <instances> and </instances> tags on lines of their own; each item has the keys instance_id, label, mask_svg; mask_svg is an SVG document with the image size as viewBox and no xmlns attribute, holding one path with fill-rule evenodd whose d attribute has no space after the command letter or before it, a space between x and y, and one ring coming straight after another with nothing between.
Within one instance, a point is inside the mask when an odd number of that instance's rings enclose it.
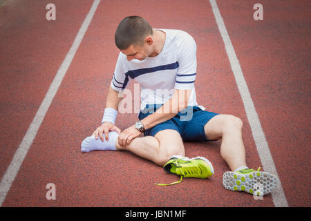
<instances>
[{"instance_id":1,"label":"man in white t-shirt sitting on track clutching his ankle","mask_svg":"<svg viewBox=\"0 0 311 221\"><path fill-rule=\"evenodd\" d=\"M254 193L254 183L258 183L263 186L263 194L270 193L276 177L246 165L241 119L198 106L194 86L196 42L187 32L152 29L142 17L131 16L117 27L115 44L120 55L102 125L82 142L83 152L131 151L163 166L168 173L180 175L181 182L182 177L207 178L214 174L205 157L185 157L183 142L221 139L220 154L232 170L223 175L225 188ZM118 95L131 79L142 87L140 120L121 131L115 126L122 99ZM164 90L171 93L163 93Z\"/></svg>"}]
</instances>

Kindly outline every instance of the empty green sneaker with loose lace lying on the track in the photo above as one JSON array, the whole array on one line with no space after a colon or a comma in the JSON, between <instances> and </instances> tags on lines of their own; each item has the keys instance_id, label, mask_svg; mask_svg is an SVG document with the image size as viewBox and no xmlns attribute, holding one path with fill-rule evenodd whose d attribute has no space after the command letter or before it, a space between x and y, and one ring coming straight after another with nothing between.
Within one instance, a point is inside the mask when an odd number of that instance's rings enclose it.
<instances>
[{"instance_id":1,"label":"empty green sneaker with loose lace lying on the track","mask_svg":"<svg viewBox=\"0 0 311 221\"><path fill-rule=\"evenodd\" d=\"M164 171L167 173L173 173L180 175L180 180L172 182L171 184L156 184L160 186L168 186L172 184L178 184L182 182L182 177L196 177L207 178L214 174L214 168L211 162L205 157L194 157L189 159L188 157L173 156L163 166Z\"/></svg>"}]
</instances>

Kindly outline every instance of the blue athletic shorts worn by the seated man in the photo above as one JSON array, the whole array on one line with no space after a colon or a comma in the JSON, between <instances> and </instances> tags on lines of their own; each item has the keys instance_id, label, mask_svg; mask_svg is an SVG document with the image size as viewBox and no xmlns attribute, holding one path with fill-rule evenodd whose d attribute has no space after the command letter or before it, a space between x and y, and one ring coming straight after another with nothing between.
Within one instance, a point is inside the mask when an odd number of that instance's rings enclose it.
<instances>
[{"instance_id":1,"label":"blue athletic shorts worn by the seated man","mask_svg":"<svg viewBox=\"0 0 311 221\"><path fill-rule=\"evenodd\" d=\"M138 118L144 119L144 117L156 112L161 106L162 104L147 104L144 110L140 111ZM188 106L175 117L146 130L144 136L154 136L159 131L171 129L180 133L184 142L209 141L205 135L204 126L216 115L218 113L202 111L198 106Z\"/></svg>"}]
</instances>

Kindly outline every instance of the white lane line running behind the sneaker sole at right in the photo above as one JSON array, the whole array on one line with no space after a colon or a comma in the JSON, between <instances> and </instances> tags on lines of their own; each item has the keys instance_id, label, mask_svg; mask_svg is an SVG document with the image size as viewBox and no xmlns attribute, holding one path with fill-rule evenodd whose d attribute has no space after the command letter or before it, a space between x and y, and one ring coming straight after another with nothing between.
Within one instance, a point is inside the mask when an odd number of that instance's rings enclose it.
<instances>
[{"instance_id":1,"label":"white lane line running behind the sneaker sole at right","mask_svg":"<svg viewBox=\"0 0 311 221\"><path fill-rule=\"evenodd\" d=\"M236 57L236 52L234 51L234 47L232 46L232 42L227 32L227 28L225 27L223 17L221 17L220 15L220 11L218 9L216 0L209 0L209 3L211 3L211 8L214 12L214 16L216 19L216 23L218 25L218 29L220 31L221 37L223 38L223 42L225 44L225 48L227 51L227 55L229 57L230 65L234 73L234 77L236 79L238 90L243 100L247 119L252 129L252 135L254 137L254 141L256 144L257 151L258 151L258 155L261 159L261 164L263 166L263 169L264 171L272 173L276 175L277 177L279 177L276 172L274 161L272 159L272 155L270 153L267 140L265 139L265 133L263 133L263 128L261 127L261 122L257 115L254 102L252 101L252 97L249 94L249 90L247 88L247 84L244 79L240 63L238 61L238 58ZM274 202L274 206L278 206L278 207L288 206L288 202L285 198L285 194L284 194L281 182L279 182L279 184L276 186L276 188L272 192L272 199Z\"/></svg>"}]
</instances>

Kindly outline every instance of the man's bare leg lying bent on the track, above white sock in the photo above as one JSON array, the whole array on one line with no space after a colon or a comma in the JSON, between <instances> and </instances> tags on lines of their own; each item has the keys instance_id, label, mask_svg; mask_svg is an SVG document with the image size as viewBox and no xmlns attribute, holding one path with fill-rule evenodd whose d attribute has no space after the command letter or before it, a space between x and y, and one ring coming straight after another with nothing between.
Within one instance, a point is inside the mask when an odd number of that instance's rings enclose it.
<instances>
[{"instance_id":1,"label":"man's bare leg lying bent on the track, above white sock","mask_svg":"<svg viewBox=\"0 0 311 221\"><path fill-rule=\"evenodd\" d=\"M154 137L137 137L126 148L116 141L115 147L118 151L131 151L160 166L167 163L172 155L185 155L182 138L177 131L173 130L160 131Z\"/></svg>"}]
</instances>

